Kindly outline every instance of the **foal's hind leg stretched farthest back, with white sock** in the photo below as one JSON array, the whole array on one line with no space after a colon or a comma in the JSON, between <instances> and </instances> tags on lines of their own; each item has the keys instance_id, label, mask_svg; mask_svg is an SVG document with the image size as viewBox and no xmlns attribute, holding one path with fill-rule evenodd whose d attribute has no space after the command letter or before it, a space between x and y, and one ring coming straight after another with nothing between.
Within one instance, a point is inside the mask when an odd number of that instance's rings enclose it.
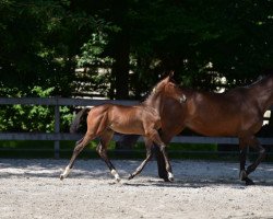
<instances>
[{"instance_id":1,"label":"foal's hind leg stretched farthest back, with white sock","mask_svg":"<svg viewBox=\"0 0 273 219\"><path fill-rule=\"evenodd\" d=\"M75 159L79 155L79 153L84 149L85 146L88 145L88 142L94 138L94 136L90 132L86 132L84 138L82 138L81 140L76 141L73 154L70 159L70 162L68 164L68 166L64 169L63 173L60 175L60 180L64 180L69 173L71 172L71 169L74 165Z\"/></svg>"}]
</instances>

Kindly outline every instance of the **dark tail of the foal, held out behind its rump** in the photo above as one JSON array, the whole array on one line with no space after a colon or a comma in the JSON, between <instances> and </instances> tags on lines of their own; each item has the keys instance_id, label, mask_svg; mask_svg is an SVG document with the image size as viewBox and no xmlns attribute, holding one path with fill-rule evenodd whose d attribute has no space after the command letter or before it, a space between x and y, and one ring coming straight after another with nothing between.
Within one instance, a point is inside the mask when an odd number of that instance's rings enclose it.
<instances>
[{"instance_id":1,"label":"dark tail of the foal, held out behind its rump","mask_svg":"<svg viewBox=\"0 0 273 219\"><path fill-rule=\"evenodd\" d=\"M71 134L85 132L87 130L86 118L91 108L85 107L75 115L69 129Z\"/></svg>"}]
</instances>

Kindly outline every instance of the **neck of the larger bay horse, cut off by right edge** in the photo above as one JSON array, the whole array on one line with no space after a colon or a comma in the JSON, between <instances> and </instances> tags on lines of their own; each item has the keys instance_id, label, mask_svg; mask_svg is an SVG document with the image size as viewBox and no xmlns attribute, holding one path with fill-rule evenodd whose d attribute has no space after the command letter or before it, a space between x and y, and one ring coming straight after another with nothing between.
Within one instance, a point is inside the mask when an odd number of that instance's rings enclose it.
<instances>
[{"instance_id":1,"label":"neck of the larger bay horse, cut off by right edge","mask_svg":"<svg viewBox=\"0 0 273 219\"><path fill-rule=\"evenodd\" d=\"M262 112L273 105L273 77L266 77L249 87L252 95L257 96L257 102Z\"/></svg>"}]
</instances>

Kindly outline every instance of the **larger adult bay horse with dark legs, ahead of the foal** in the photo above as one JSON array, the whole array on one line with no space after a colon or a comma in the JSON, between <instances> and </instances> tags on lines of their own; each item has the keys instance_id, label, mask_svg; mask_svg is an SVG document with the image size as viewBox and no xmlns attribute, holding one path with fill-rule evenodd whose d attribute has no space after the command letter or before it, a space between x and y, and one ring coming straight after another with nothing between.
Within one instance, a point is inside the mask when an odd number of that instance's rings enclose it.
<instances>
[{"instance_id":1,"label":"larger adult bay horse with dark legs, ahead of the foal","mask_svg":"<svg viewBox=\"0 0 273 219\"><path fill-rule=\"evenodd\" d=\"M168 91L173 87L171 76L162 80L157 87ZM256 138L263 124L263 114L273 105L273 76L266 76L257 82L232 89L224 93L201 92L180 88L187 97L185 104L178 104L171 95L164 102L147 100L146 105L161 108L161 138L168 143L186 127L204 136L229 136L239 139L239 178L246 185L254 184L249 178L265 157L265 150ZM258 159L246 166L248 146L259 152ZM159 176L166 180L162 169L164 160L157 158Z\"/></svg>"}]
</instances>

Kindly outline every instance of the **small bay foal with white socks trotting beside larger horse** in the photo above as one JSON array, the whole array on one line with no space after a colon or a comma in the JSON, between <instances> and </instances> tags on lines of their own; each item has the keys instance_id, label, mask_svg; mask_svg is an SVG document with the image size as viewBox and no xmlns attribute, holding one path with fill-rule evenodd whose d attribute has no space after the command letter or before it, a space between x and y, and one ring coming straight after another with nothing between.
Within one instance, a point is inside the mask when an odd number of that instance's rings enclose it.
<instances>
[{"instance_id":1,"label":"small bay foal with white socks trotting beside larger horse","mask_svg":"<svg viewBox=\"0 0 273 219\"><path fill-rule=\"evenodd\" d=\"M178 88L174 87L174 89ZM182 95L179 90L177 90L176 92L174 92L173 90L171 92L166 92L159 89L154 89L146 101L153 100L154 102L156 102L165 96L167 97L169 94L171 94L171 99L179 102L179 104L186 101L182 100L185 95ZM86 113L86 110L79 113L78 119ZM99 137L99 143L96 150L109 168L110 173L115 176L116 181L119 182L120 176L107 157L107 146L111 140L114 132L120 132L142 135L144 137L146 147L145 160L132 174L130 174L129 180L138 175L151 159L151 148L154 142L161 148L161 151L163 152L168 180L174 181L171 166L165 152L166 145L162 141L157 131L162 127L159 114L155 108L146 105L145 102L134 106L124 106L117 104L103 104L94 106L87 113L86 123L86 134L80 141L76 142L71 160L68 166L64 169L63 173L60 175L60 180L63 180L69 175L71 169L74 165L76 157L84 149L84 147L87 146L91 140Z\"/></svg>"}]
</instances>

